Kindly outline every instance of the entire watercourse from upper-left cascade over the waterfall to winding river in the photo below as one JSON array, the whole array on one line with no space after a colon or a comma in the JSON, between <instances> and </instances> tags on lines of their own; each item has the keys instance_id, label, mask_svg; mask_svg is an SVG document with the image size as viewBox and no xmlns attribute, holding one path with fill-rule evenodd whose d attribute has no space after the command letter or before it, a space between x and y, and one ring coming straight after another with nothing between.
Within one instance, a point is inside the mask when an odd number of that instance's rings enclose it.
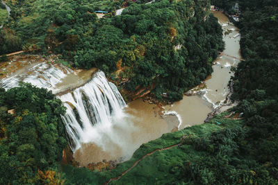
<instances>
[{"instance_id":1,"label":"entire watercourse from upper-left cascade over the waterfall to winding river","mask_svg":"<svg viewBox=\"0 0 278 185\"><path fill-rule=\"evenodd\" d=\"M80 166L104 159L126 161L142 143L157 139L167 132L202 124L208 113L220 106L222 110L231 107L226 106L225 100L230 91L229 80L234 76L231 67L236 67L240 62L236 59L240 58L240 35L235 37L238 28L229 23L222 12L213 14L223 28L225 55L214 61L213 73L202 84L204 88L192 89L187 93L190 96L185 95L182 100L164 109L142 99L127 105L120 103L115 100L116 96L121 98L120 93L115 85L107 82L104 73L96 72L96 69L74 71L56 64L54 56L47 60L18 56L11 62L1 64L0 73L4 76L0 87L10 89L17 86L19 81L24 81L52 90L67 107L63 121L67 133L72 136L70 142L74 143L71 145L74 159ZM95 98L97 96L98 99ZM100 103L99 109L102 106L103 111L92 108L96 103ZM75 114L79 114L79 118L74 118ZM109 118L106 119L106 116Z\"/></svg>"}]
</instances>

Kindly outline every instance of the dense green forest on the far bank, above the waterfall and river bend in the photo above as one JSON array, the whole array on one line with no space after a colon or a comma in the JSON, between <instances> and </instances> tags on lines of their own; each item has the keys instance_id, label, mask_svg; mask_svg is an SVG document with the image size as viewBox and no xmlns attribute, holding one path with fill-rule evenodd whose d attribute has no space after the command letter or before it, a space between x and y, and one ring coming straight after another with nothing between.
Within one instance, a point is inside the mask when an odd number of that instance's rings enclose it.
<instances>
[{"instance_id":1,"label":"dense green forest on the far bank, above the waterfall and river bend","mask_svg":"<svg viewBox=\"0 0 278 185\"><path fill-rule=\"evenodd\" d=\"M8 1L0 54L61 53L74 67L106 72L120 89L148 88L156 98L179 100L211 74L224 49L221 26L206 0L146 2ZM109 13L98 19L95 10Z\"/></svg>"}]
</instances>

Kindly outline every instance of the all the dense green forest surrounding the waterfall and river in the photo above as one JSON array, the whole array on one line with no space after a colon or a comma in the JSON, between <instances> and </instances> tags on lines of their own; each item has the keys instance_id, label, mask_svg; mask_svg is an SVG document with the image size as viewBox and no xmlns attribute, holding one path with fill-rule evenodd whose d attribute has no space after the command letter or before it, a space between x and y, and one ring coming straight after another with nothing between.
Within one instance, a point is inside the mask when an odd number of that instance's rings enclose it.
<instances>
[{"instance_id":1,"label":"all the dense green forest surrounding the waterfall and river","mask_svg":"<svg viewBox=\"0 0 278 185\"><path fill-rule=\"evenodd\" d=\"M227 11L235 2L212 1ZM103 184L147 153L170 146L111 183L278 184L278 4L237 2L245 58L233 78L238 106L208 123L163 134L143 144L129 161L97 172L58 163L67 146L60 119L65 109L51 92L29 84L0 89L0 184ZM144 3L15 1L0 33L1 54L21 49L63 53L76 67L99 67L111 78L123 70L122 79L133 79L126 84L129 89L149 86L154 78L158 98L167 91L179 99L211 73L211 62L223 49L222 30L204 11L206 1ZM128 8L114 16L122 7ZM111 13L97 19L99 9Z\"/></svg>"}]
</instances>

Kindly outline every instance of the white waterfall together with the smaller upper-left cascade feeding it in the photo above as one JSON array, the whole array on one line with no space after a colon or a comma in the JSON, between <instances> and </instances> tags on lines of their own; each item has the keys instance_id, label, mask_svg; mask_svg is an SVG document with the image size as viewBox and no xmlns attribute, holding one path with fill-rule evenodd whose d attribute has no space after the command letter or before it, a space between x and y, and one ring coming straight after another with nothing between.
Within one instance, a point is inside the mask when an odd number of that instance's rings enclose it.
<instances>
[{"instance_id":1,"label":"white waterfall together with the smaller upper-left cascade feeding it","mask_svg":"<svg viewBox=\"0 0 278 185\"><path fill-rule=\"evenodd\" d=\"M107 144L109 142L112 142L115 146L121 146L124 136L121 135L122 133L119 134L113 130L113 127L115 127L113 123L125 128L131 127L131 125L123 125L128 123L128 121L125 121L126 114L123 111L126 103L117 87L108 82L102 71L95 72L92 78L83 85L82 80L77 76L67 81L69 82L67 87L63 87L63 89L56 87L73 73L72 69L63 65L42 62L29 67L22 73L14 73L7 78L3 78L0 80L0 87L10 89L19 86L19 82L23 81L57 93L71 89L70 82L73 82L77 87L76 89L57 96L67 107L62 119L72 151L80 148L82 143L90 142L97 143L103 150L111 148ZM76 79L78 82L76 82ZM124 148L124 146L121 146L121 148Z\"/></svg>"}]
</instances>

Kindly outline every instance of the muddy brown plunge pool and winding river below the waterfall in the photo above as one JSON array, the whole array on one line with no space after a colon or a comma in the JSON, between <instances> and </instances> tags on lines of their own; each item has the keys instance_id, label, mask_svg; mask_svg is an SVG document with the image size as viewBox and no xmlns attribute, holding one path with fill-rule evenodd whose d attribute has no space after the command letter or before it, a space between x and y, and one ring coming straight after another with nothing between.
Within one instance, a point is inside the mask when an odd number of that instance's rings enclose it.
<instances>
[{"instance_id":1,"label":"muddy brown plunge pool and winding river below the waterfall","mask_svg":"<svg viewBox=\"0 0 278 185\"><path fill-rule=\"evenodd\" d=\"M218 17L219 23L229 34L224 36L225 50L223 53L240 58L240 36L234 38L239 30L222 12L213 12ZM224 33L223 32L223 33ZM181 118L173 114L161 117L156 105L150 105L141 99L135 100L125 108L129 116L121 123L115 122L113 132L117 132L118 138L115 141L107 141L105 150L98 146L98 143L84 143L83 146L76 150L74 159L81 166L90 162L99 162L103 159L125 161L130 159L142 143L147 143L159 138L162 134L179 130L191 125L202 124L208 113L212 112L213 107L223 102L229 93L229 80L234 73L231 67L236 67L239 60L230 58L226 55L220 56L214 61L213 73L211 78L205 81L206 88L202 89L204 94L196 96L183 96L183 99L173 105L165 106L165 112L176 112ZM108 149L107 149L108 148Z\"/></svg>"}]
</instances>

